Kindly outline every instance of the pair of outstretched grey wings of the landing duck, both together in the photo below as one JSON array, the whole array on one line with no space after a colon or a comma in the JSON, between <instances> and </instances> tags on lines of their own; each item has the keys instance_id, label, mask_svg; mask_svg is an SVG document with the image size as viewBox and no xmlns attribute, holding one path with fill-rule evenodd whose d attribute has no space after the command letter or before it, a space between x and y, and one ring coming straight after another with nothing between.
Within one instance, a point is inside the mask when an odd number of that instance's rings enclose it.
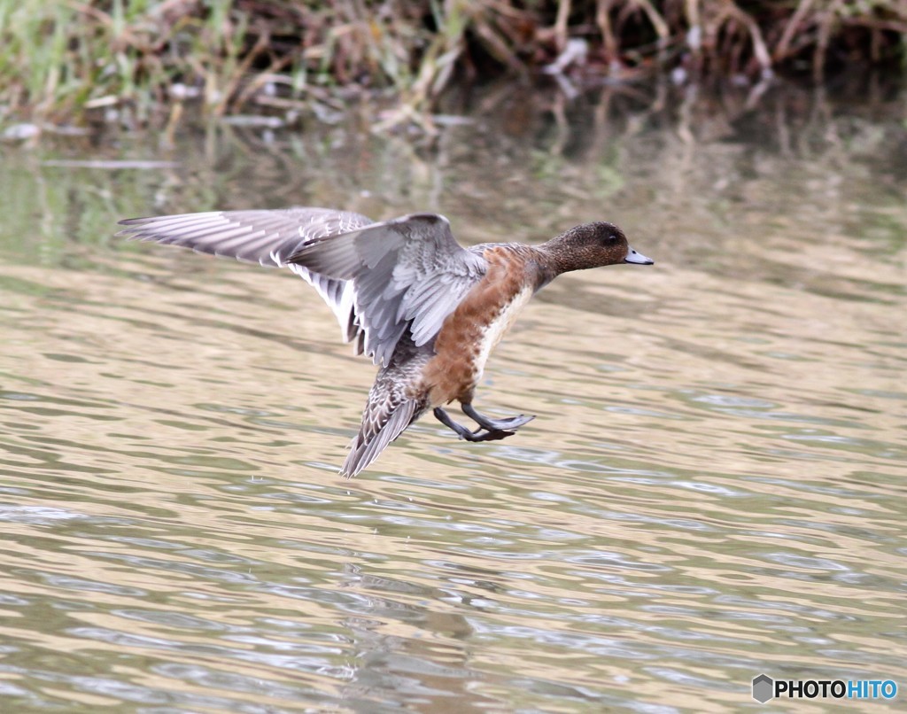
<instances>
[{"instance_id":1,"label":"pair of outstretched grey wings of the landing duck, both together","mask_svg":"<svg viewBox=\"0 0 907 714\"><path fill-rule=\"evenodd\" d=\"M407 328L416 346L432 340L487 269L434 213L375 223L346 210L293 208L120 222L120 236L288 267L334 310L356 352L379 365L389 363Z\"/></svg>"}]
</instances>

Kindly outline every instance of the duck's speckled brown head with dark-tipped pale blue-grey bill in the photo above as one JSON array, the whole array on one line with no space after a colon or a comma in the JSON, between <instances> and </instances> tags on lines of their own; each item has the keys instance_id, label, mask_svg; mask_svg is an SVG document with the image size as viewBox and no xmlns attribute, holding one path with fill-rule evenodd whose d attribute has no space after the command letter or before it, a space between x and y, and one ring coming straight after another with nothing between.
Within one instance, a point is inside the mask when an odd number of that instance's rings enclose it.
<instances>
[{"instance_id":1,"label":"duck's speckled brown head with dark-tipped pale blue-grey bill","mask_svg":"<svg viewBox=\"0 0 907 714\"><path fill-rule=\"evenodd\" d=\"M541 246L558 272L600 268L617 263L652 265L654 260L629 247L627 237L613 223L583 223Z\"/></svg>"}]
</instances>

